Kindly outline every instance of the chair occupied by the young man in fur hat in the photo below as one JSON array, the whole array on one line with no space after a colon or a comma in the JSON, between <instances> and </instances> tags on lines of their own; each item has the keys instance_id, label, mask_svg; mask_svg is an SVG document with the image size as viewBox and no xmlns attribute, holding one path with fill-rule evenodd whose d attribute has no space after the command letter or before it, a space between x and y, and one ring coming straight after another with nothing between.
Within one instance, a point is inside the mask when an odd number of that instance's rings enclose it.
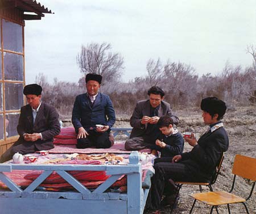
<instances>
[{"instance_id":1,"label":"chair occupied by the young man in fur hat","mask_svg":"<svg viewBox=\"0 0 256 214\"><path fill-rule=\"evenodd\" d=\"M220 169L221 169L221 165L222 165L222 162L224 160L224 153L222 153L221 157L220 157L220 160L218 160L218 163L217 163L217 166L216 166L216 171L212 177L212 180L210 182L183 182L183 181L176 181L175 184L177 186L177 190L176 190L176 196L175 196L175 201L179 195L179 192L180 192L180 189L181 187L185 184L185 185L198 185L199 186L199 190L200 192L203 191L203 188L202 186L207 186L209 187L210 191L213 191L212 189L212 184L214 184L216 181L217 181L217 178L218 178L218 174L220 174ZM172 181L170 181L172 182ZM175 205L175 204L174 204ZM172 205L172 208L171 208L171 212L170 214L172 213L173 209L174 209L174 205Z\"/></svg>"}]
</instances>

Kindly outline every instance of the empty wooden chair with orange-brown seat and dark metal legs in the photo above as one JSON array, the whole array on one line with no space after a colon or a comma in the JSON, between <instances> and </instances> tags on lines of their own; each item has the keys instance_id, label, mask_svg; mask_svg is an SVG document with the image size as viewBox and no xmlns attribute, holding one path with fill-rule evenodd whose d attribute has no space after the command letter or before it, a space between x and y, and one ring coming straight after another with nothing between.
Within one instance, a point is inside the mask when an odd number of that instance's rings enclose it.
<instances>
[{"instance_id":1,"label":"empty wooden chair with orange-brown seat and dark metal legs","mask_svg":"<svg viewBox=\"0 0 256 214\"><path fill-rule=\"evenodd\" d=\"M192 205L191 211L189 213L192 213L196 200L199 200L200 202L203 202L205 204L212 205L212 208L210 209L210 213L213 212L214 207L217 210L217 206L223 205L223 204L228 205L228 211L230 213L229 204L242 203L245 206L246 213L249 214L249 211L245 202L249 200L251 198L251 195L253 194L255 181L256 181L256 158L246 157L246 156L242 156L241 154L237 154L234 160L232 173L234 174L234 178L233 178L232 188L229 192L213 191L213 192L192 194L191 196L195 200ZM251 187L250 194L246 199L243 199L240 196L232 194L237 175L242 178L250 179L251 181L253 181L253 186Z\"/></svg>"}]
</instances>

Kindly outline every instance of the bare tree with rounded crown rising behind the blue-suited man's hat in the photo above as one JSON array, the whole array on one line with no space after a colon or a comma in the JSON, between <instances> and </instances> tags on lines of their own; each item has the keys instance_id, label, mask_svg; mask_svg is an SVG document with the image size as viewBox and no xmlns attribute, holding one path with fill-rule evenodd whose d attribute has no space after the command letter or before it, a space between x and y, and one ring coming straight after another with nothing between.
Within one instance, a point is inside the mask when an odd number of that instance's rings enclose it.
<instances>
[{"instance_id":1,"label":"bare tree with rounded crown rising behind the blue-suited man's hat","mask_svg":"<svg viewBox=\"0 0 256 214\"><path fill-rule=\"evenodd\" d=\"M106 43L82 45L81 52L77 54L77 64L82 73L100 74L105 82L121 77L124 68L121 54L113 53L111 45Z\"/></svg>"}]
</instances>

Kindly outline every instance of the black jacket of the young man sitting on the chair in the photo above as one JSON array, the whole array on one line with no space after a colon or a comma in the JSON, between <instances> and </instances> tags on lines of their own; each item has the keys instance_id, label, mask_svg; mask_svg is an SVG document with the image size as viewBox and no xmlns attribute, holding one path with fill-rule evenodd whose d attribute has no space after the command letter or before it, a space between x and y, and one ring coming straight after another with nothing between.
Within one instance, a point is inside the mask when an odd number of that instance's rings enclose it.
<instances>
[{"instance_id":1,"label":"black jacket of the young man sitting on the chair","mask_svg":"<svg viewBox=\"0 0 256 214\"><path fill-rule=\"evenodd\" d=\"M191 152L181 154L181 163L195 173L199 181L209 181L221 154L228 150L229 139L224 127L204 133Z\"/></svg>"}]
</instances>

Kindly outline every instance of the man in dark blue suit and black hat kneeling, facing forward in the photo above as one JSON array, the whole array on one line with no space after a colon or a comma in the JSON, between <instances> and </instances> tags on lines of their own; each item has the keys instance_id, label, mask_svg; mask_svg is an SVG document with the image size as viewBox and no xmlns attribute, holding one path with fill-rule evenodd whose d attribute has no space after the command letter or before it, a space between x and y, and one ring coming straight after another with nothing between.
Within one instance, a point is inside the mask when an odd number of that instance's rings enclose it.
<instances>
[{"instance_id":1,"label":"man in dark blue suit and black hat kneeling, facing forward","mask_svg":"<svg viewBox=\"0 0 256 214\"><path fill-rule=\"evenodd\" d=\"M77 132L77 148L110 148L113 139L109 132L115 123L115 111L109 96L99 91L102 76L87 74L87 93L76 96L72 111L72 123ZM103 125L96 128L96 124Z\"/></svg>"}]
</instances>

